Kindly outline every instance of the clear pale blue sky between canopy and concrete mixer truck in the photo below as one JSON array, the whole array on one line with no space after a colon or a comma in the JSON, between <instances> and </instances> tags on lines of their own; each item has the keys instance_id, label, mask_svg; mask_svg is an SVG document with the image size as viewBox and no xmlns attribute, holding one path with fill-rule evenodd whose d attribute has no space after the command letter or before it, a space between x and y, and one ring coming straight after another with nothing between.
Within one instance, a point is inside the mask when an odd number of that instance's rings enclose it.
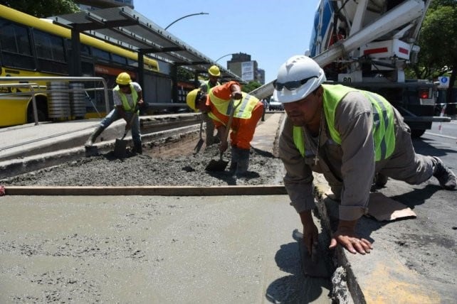
<instances>
[{"instance_id":1,"label":"clear pale blue sky between canopy and concrete mixer truck","mask_svg":"<svg viewBox=\"0 0 457 304\"><path fill-rule=\"evenodd\" d=\"M160 4L157 4L160 2ZM266 83L293 55L309 49L312 22L319 0L134 0L135 11L162 28L183 18L168 31L206 57L218 60L246 53L265 70ZM231 56L217 61L227 67Z\"/></svg>"}]
</instances>

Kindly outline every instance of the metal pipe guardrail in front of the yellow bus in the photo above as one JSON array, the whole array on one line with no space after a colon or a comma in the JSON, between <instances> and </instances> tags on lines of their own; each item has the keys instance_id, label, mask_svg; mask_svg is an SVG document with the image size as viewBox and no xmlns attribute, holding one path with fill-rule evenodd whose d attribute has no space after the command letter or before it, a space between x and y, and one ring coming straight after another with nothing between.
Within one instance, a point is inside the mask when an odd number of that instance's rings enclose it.
<instances>
[{"instance_id":1,"label":"metal pipe guardrail in front of the yellow bus","mask_svg":"<svg viewBox=\"0 0 457 304\"><path fill-rule=\"evenodd\" d=\"M33 107L33 119L35 120L35 125L38 125L38 112L36 108L36 99L35 95L38 93L48 93L48 92L87 92L87 91L104 91L103 97L105 99L105 110L110 112L110 102L108 98L108 89L107 82L103 77L0 77L0 82L15 82L15 83L0 83L0 87L26 87L30 89L31 92L11 92L11 93L1 93L1 96L6 95L32 95L32 107ZM31 81L31 82L30 82ZM36 82L48 82L48 81L62 81L62 82L102 82L103 87L94 87L88 89L42 89L43 85L38 85ZM34 89L38 88L38 90Z\"/></svg>"}]
</instances>

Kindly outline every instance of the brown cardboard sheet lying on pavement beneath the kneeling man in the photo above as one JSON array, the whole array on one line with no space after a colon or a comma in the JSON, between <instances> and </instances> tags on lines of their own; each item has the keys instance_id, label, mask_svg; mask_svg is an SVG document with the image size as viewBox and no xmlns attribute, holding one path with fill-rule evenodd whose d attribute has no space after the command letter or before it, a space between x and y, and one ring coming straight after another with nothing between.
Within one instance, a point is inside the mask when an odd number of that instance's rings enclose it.
<instances>
[{"instance_id":1,"label":"brown cardboard sheet lying on pavement beneath the kneeling man","mask_svg":"<svg viewBox=\"0 0 457 304\"><path fill-rule=\"evenodd\" d=\"M369 194L368 215L379 222L416 217L416 213L411 208L380 192Z\"/></svg>"}]
</instances>

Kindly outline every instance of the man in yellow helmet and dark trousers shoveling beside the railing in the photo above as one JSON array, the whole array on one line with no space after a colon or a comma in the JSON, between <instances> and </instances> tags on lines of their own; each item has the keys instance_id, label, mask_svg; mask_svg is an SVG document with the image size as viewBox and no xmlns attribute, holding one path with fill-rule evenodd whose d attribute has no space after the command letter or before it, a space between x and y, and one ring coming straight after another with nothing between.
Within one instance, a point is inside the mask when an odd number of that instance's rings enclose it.
<instances>
[{"instance_id":1,"label":"man in yellow helmet and dark trousers shoveling beside the railing","mask_svg":"<svg viewBox=\"0 0 457 304\"><path fill-rule=\"evenodd\" d=\"M140 134L140 117L139 108L144 104L142 98L142 89L137 82L132 82L130 75L127 72L122 72L117 75L117 86L112 89L112 99L115 108L105 116L100 122L100 126L93 131L88 141L85 142L85 147L93 146L97 137L102 134L110 124L117 119L125 119L127 125L125 129L132 129L132 139L135 145L135 152L142 153L141 134ZM135 115L135 117L133 117Z\"/></svg>"}]
</instances>

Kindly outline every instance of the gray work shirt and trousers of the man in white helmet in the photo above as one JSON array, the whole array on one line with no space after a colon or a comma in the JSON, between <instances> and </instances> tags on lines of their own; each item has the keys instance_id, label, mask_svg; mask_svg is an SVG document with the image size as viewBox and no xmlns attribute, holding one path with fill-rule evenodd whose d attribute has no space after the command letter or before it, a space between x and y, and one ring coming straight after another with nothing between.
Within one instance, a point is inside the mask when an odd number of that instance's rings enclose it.
<instances>
[{"instance_id":1,"label":"gray work shirt and trousers of the man in white helmet","mask_svg":"<svg viewBox=\"0 0 457 304\"><path fill-rule=\"evenodd\" d=\"M395 108L394 152L385 160L374 161L372 105L360 92L349 92L337 105L335 129L341 145L332 141L323 114L321 128L317 165L317 137L303 127L306 151L302 157L293 142L293 124L289 119L285 119L280 134L279 156L286 170L284 185L297 212L315 207L312 171L322 173L340 197L343 220L358 219L367 212L375 172L414 185L424 183L433 174L433 158L415 153L409 126Z\"/></svg>"}]
</instances>

